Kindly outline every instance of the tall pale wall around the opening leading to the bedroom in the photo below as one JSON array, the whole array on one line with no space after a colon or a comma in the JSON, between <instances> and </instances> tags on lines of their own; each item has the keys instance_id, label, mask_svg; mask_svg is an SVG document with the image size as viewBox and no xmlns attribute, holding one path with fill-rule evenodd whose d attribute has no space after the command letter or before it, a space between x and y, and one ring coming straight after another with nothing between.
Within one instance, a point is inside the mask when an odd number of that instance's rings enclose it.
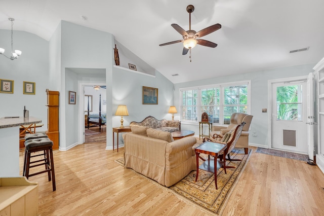
<instances>
[{"instance_id":1,"label":"tall pale wall around the opening leading to the bedroom","mask_svg":"<svg viewBox=\"0 0 324 216\"><path fill-rule=\"evenodd\" d=\"M98 52L100 51L100 52ZM98 55L100 53L100 55ZM112 77L112 61L113 61L113 37L110 33L91 29L88 27L75 25L66 21L61 22L61 82L60 90L60 150L68 150L79 143L80 129L77 125L81 125L80 121L84 121L81 117L83 112L71 113L68 105L68 91L77 92L77 79L71 79L67 75L66 68L103 68L106 71L107 86L107 103L111 103L111 77ZM69 88L69 89L67 89ZM79 92L77 92L77 97ZM79 107L79 100L76 102ZM64 109L66 107L66 109ZM83 110L83 109L82 109ZM74 111L74 109L73 109ZM107 107L107 119L111 118L111 107ZM78 119L76 123L76 119ZM69 129L68 129L69 128ZM70 131L73 128L72 131ZM107 137L111 137L111 122L107 122ZM109 134L110 133L110 134ZM67 138L67 136L69 136ZM73 137L73 138L71 138ZM107 146L111 139L107 138Z\"/></svg>"}]
</instances>

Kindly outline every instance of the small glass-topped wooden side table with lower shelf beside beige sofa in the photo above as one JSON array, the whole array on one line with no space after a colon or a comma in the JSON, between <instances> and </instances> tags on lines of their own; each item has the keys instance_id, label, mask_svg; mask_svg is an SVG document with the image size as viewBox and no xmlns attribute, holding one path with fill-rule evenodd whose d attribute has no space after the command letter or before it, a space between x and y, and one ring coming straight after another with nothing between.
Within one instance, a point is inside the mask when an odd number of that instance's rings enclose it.
<instances>
[{"instance_id":1,"label":"small glass-topped wooden side table with lower shelf beside beige sofa","mask_svg":"<svg viewBox=\"0 0 324 216\"><path fill-rule=\"evenodd\" d=\"M213 172L215 174L215 186L217 189L217 171L219 168L221 168L225 164L225 154L223 154L223 161L217 160L218 153L221 151L224 151L227 148L227 144L221 144L216 142L204 142L197 148L195 148L196 153L196 162L197 162L197 172L196 172L196 182L198 179L198 173L199 169L206 170L208 172ZM208 159L204 159L199 156L200 153L208 155ZM210 156L213 156L214 159L210 158ZM205 161L203 164L199 166L199 158L203 161ZM224 165L224 171L226 174L226 166Z\"/></svg>"}]
</instances>

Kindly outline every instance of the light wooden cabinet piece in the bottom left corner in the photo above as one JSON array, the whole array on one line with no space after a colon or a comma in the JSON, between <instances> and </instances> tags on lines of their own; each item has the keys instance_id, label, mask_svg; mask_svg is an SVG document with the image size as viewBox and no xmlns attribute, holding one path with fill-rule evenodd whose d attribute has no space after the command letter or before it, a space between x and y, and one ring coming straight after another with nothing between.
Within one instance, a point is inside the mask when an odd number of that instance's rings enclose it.
<instances>
[{"instance_id":1,"label":"light wooden cabinet piece in the bottom left corner","mask_svg":"<svg viewBox=\"0 0 324 216\"><path fill-rule=\"evenodd\" d=\"M38 185L26 177L0 178L0 215L38 215Z\"/></svg>"}]
</instances>

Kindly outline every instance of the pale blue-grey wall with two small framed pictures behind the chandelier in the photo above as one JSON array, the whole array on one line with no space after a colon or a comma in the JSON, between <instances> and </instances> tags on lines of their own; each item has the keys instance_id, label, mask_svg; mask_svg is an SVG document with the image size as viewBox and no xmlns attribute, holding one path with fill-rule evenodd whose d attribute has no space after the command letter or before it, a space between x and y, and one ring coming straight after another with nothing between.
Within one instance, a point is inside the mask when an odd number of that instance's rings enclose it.
<instances>
[{"instance_id":1,"label":"pale blue-grey wall with two small framed pictures behind the chandelier","mask_svg":"<svg viewBox=\"0 0 324 216\"><path fill-rule=\"evenodd\" d=\"M11 53L11 30L0 29L0 47ZM14 49L22 51L16 60L0 55L0 79L14 81L14 93L0 93L0 118L23 116L24 106L29 116L42 120L47 130L47 95L49 88L49 42L25 31L14 31ZM35 95L23 94L23 82L35 83Z\"/></svg>"}]
</instances>

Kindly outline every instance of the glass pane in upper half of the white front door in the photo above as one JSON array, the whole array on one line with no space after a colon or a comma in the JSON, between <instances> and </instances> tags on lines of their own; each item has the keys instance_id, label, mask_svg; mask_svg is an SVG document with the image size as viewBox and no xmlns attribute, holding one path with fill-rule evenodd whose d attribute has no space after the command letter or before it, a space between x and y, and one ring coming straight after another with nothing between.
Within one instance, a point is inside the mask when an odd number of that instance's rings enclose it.
<instances>
[{"instance_id":1,"label":"glass pane in upper half of the white front door","mask_svg":"<svg viewBox=\"0 0 324 216\"><path fill-rule=\"evenodd\" d=\"M302 121L302 86L277 87L277 120Z\"/></svg>"}]
</instances>

